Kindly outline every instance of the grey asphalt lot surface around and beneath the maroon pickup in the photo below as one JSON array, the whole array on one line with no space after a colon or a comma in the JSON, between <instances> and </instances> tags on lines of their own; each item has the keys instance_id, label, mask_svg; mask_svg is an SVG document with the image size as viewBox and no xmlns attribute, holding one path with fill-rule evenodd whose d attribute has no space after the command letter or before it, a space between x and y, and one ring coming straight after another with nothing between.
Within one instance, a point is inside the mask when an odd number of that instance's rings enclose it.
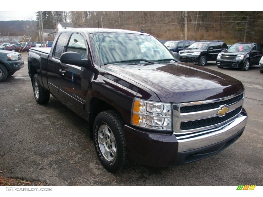
<instances>
[{"instance_id":1,"label":"grey asphalt lot surface around and beneath the maroon pickup","mask_svg":"<svg viewBox=\"0 0 263 197\"><path fill-rule=\"evenodd\" d=\"M41 106L33 96L26 66L0 83L0 170L6 177L54 185L263 185L263 74L207 68L241 80L249 114L241 138L212 157L184 166L148 167L135 164L120 174L100 165L89 139L88 122L54 97ZM169 150L167 150L169 151Z\"/></svg>"}]
</instances>

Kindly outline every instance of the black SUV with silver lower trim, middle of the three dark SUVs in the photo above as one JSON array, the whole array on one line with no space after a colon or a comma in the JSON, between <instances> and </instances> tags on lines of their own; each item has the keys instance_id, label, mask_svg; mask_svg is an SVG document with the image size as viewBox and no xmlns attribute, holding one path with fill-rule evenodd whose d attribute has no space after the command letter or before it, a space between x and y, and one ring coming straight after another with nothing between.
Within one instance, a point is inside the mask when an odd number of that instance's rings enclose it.
<instances>
[{"instance_id":1,"label":"black SUV with silver lower trim, middle of the three dark SUVs","mask_svg":"<svg viewBox=\"0 0 263 197\"><path fill-rule=\"evenodd\" d=\"M180 61L197 62L199 66L204 66L207 61L216 61L218 54L227 48L222 40L199 40L186 50L179 51Z\"/></svg>"}]
</instances>

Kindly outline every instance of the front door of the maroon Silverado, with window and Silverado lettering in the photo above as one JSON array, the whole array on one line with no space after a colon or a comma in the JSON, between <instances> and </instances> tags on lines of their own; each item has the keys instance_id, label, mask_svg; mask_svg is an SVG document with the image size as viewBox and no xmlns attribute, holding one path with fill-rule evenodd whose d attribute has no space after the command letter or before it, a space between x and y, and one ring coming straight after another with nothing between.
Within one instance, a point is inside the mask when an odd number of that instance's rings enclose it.
<instances>
[{"instance_id":1,"label":"front door of the maroon Silverado, with window and Silverado lettering","mask_svg":"<svg viewBox=\"0 0 263 197\"><path fill-rule=\"evenodd\" d=\"M79 33L71 34L65 52L67 51L77 52L82 59L88 59L87 43ZM89 70L60 62L58 73L59 98L71 110L84 116L90 82Z\"/></svg>"}]
</instances>

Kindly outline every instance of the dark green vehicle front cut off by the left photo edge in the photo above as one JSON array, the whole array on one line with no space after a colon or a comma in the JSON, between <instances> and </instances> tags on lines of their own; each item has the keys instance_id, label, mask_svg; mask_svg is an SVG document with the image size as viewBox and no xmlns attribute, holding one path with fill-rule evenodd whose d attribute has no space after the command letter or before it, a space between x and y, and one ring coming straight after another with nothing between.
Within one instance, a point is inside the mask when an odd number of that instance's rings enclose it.
<instances>
[{"instance_id":1,"label":"dark green vehicle front cut off by the left photo edge","mask_svg":"<svg viewBox=\"0 0 263 197\"><path fill-rule=\"evenodd\" d=\"M1 50L0 62L0 82L24 67L24 60L22 60L21 54L13 51Z\"/></svg>"}]
</instances>

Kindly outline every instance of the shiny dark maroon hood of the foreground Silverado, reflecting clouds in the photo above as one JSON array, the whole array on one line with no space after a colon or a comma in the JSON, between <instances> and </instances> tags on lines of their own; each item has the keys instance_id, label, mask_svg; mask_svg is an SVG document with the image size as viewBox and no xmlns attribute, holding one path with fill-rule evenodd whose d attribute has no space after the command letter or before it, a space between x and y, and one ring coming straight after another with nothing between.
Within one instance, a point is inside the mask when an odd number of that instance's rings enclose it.
<instances>
[{"instance_id":1,"label":"shiny dark maroon hood of the foreground Silverado, reflecting clouds","mask_svg":"<svg viewBox=\"0 0 263 197\"><path fill-rule=\"evenodd\" d=\"M111 64L104 69L148 88L162 102L210 100L244 91L240 81L189 63Z\"/></svg>"}]
</instances>

